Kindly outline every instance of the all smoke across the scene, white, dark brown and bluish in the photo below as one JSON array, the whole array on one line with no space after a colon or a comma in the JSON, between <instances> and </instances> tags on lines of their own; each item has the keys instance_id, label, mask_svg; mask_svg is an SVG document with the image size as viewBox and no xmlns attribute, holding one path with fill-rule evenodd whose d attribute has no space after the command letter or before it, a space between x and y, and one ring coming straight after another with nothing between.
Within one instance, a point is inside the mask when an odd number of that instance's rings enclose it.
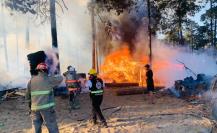
<instances>
[{"instance_id":1,"label":"all smoke across the scene, white, dark brown and bluish","mask_svg":"<svg viewBox=\"0 0 217 133\"><path fill-rule=\"evenodd\" d=\"M91 19L87 9L88 0L65 0L68 10L62 10L57 6L57 34L59 43L59 59L61 73L67 66L72 65L78 72L87 72L91 67ZM142 4L141 4L142 5ZM2 12L1 12L2 13ZM40 20L33 20L29 14L16 13L11 15L10 11L4 9L4 23L0 22L0 84L7 85L10 81L14 87L25 87L30 78L29 64L26 55L39 50L47 51L51 49L51 34L49 21L40 24ZM116 16L113 13L100 14L96 16L97 42L99 53L106 56L117 48L127 45L135 61L148 55L147 36L147 13L140 7L138 12L130 14L124 13ZM26 47L26 21L29 20L30 44ZM109 26L109 21L112 26ZM16 22L16 25L14 24ZM10 25L10 26L8 26ZM3 33L3 28L5 33ZM105 30L108 28L108 31ZM9 68L6 68L5 52L3 44L3 34L6 34ZM18 38L16 40L16 38ZM16 43L18 42L18 44ZM18 49L17 49L18 45ZM18 52L17 52L18 51ZM55 50L48 50L46 54L54 59L51 72L55 71L58 60L55 57ZM153 39L153 67L160 68L154 72L155 77L167 81L167 85L172 85L174 80L182 79L192 75L185 70L184 66L177 62L184 62L195 73L205 73L214 75L215 59L204 53L192 53L186 48L175 48L168 46L157 39ZM163 66L158 66L163 61ZM18 62L18 63L17 63ZM208 66L208 68L207 68ZM22 81L19 81L19 80Z\"/></svg>"}]
</instances>

